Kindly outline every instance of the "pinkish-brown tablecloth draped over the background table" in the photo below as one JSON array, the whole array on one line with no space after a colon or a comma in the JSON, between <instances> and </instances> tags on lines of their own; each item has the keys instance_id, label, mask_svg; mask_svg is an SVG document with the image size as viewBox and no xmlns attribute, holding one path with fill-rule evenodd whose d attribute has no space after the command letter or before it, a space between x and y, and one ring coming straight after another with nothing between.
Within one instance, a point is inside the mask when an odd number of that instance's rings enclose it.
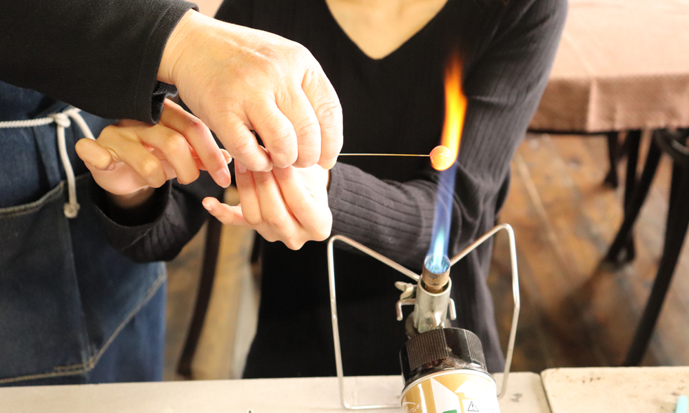
<instances>
[{"instance_id":1,"label":"pinkish-brown tablecloth draped over the background table","mask_svg":"<svg viewBox=\"0 0 689 413\"><path fill-rule=\"evenodd\" d=\"M689 0L570 0L530 129L689 127Z\"/></svg>"}]
</instances>

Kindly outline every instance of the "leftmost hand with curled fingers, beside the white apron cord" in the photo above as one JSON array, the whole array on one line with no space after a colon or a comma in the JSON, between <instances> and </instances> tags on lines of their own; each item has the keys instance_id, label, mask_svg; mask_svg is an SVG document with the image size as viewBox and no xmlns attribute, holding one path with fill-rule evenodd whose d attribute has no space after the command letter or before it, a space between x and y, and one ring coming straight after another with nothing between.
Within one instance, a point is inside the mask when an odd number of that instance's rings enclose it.
<instances>
[{"instance_id":1,"label":"leftmost hand with curled fingers, beside the white apron cord","mask_svg":"<svg viewBox=\"0 0 689 413\"><path fill-rule=\"evenodd\" d=\"M232 160L200 120L171 100L165 100L157 125L121 120L103 129L97 140L76 142L76 153L120 207L142 204L153 188L172 178L194 182L205 162L217 155L224 156L225 168Z\"/></svg>"}]
</instances>

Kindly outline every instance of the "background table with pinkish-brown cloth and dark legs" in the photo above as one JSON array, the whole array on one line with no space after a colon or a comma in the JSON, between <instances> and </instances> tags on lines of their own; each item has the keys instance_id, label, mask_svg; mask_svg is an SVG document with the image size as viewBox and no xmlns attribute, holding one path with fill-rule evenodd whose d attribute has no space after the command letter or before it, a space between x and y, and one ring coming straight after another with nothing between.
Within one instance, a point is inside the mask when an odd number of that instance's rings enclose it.
<instances>
[{"instance_id":1,"label":"background table with pinkish-brown cloth and dark legs","mask_svg":"<svg viewBox=\"0 0 689 413\"><path fill-rule=\"evenodd\" d=\"M636 366L646 352L689 228L689 129L683 128L689 128L689 0L570 0L553 72L529 129L606 134L606 182L613 187L619 153L626 152L624 221L605 261L634 259L632 228L661 154L673 162L664 251L626 366ZM639 177L643 130L653 138Z\"/></svg>"}]
</instances>

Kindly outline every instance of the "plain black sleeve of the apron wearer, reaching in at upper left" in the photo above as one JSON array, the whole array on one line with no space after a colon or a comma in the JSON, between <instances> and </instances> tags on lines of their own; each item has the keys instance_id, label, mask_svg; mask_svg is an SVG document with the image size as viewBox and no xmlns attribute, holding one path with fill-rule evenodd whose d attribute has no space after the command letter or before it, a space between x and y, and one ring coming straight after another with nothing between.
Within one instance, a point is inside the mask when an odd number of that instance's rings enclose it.
<instances>
[{"instance_id":1,"label":"plain black sleeve of the apron wearer, reaching in at upper left","mask_svg":"<svg viewBox=\"0 0 689 413\"><path fill-rule=\"evenodd\" d=\"M155 123L156 81L183 0L0 0L0 80L104 118Z\"/></svg>"}]
</instances>

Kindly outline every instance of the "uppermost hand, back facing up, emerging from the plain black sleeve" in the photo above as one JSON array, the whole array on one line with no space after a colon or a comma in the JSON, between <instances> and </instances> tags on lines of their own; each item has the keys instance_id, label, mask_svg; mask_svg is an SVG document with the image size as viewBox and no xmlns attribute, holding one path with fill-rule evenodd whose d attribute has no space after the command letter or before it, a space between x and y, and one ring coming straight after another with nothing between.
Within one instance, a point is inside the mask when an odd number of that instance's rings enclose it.
<instances>
[{"instance_id":1,"label":"uppermost hand, back facing up, emerging from the plain black sleeve","mask_svg":"<svg viewBox=\"0 0 689 413\"><path fill-rule=\"evenodd\" d=\"M167 41L158 80L176 85L194 114L251 171L335 165L342 148L340 101L298 43L190 10Z\"/></svg>"}]
</instances>

